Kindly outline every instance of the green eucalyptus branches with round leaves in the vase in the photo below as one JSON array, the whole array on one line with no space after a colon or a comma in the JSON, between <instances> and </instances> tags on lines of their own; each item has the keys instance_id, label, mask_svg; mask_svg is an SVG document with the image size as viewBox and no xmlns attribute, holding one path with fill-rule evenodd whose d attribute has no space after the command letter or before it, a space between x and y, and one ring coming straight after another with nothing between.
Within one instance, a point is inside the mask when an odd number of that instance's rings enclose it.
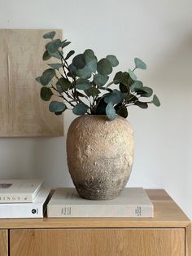
<instances>
[{"instance_id":1,"label":"green eucalyptus branches with round leaves in the vase","mask_svg":"<svg viewBox=\"0 0 192 256\"><path fill-rule=\"evenodd\" d=\"M153 95L153 90L143 86L134 73L137 68L146 69L142 60L135 58L133 70L119 71L111 82L108 82L113 68L119 64L115 55L107 55L98 60L94 51L87 49L84 53L75 55L69 64L68 60L75 51L69 51L64 56L63 48L71 42L54 39L55 31L44 34L43 38L50 39L50 42L46 43L42 60L55 58L59 63L48 64L50 68L36 80L42 86L41 99L49 101L52 95L58 95L60 100L51 101L49 105L50 112L55 115L71 108L76 115L107 115L113 120L116 115L126 118L127 107L130 105L140 108L148 108L148 104L160 105L158 97ZM111 89L111 85L116 88ZM151 100L141 100L152 95Z\"/></svg>"}]
</instances>

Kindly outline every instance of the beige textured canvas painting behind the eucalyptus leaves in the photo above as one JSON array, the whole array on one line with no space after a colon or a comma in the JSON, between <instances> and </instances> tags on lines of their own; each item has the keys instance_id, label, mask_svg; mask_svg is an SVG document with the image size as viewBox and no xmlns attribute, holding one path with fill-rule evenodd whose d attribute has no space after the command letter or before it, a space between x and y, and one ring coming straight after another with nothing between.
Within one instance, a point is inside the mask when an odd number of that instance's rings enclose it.
<instances>
[{"instance_id":1,"label":"beige textured canvas painting behind the eucalyptus leaves","mask_svg":"<svg viewBox=\"0 0 192 256\"><path fill-rule=\"evenodd\" d=\"M51 30L0 29L1 137L63 135L63 115L49 112L49 102L41 100L41 85L35 81L49 68L42 60L47 40L42 35ZM55 38L62 38L62 31L55 31Z\"/></svg>"}]
</instances>

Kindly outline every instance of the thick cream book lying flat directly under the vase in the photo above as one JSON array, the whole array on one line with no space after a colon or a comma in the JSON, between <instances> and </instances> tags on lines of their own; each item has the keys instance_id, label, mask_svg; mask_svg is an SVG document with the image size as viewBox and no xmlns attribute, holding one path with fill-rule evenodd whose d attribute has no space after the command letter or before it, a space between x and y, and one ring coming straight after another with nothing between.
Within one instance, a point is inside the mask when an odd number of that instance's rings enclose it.
<instances>
[{"instance_id":1,"label":"thick cream book lying flat directly under the vase","mask_svg":"<svg viewBox=\"0 0 192 256\"><path fill-rule=\"evenodd\" d=\"M152 218L153 215L153 204L143 188L124 188L120 196L108 201L86 200L75 188L58 188L47 205L48 218Z\"/></svg>"}]
</instances>

